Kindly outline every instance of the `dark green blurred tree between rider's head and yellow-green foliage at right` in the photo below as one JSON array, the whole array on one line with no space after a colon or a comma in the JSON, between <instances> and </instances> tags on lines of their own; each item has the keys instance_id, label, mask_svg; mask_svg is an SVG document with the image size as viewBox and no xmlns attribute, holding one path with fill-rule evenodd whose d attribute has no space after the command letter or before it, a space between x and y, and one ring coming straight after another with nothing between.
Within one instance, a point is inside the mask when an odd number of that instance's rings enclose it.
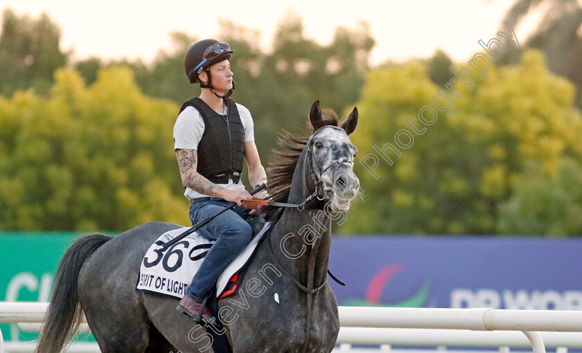
<instances>
[{"instance_id":1,"label":"dark green blurred tree between rider's head and yellow-green foliage at right","mask_svg":"<svg viewBox=\"0 0 582 353\"><path fill-rule=\"evenodd\" d=\"M331 44L322 46L306 38L298 15L286 15L274 36L274 52L264 57L253 85L245 86L251 96L244 102L257 121L261 155L276 147L281 129L303 129L315 100L338 113L353 105L373 44L369 26L359 23L355 30L337 28Z\"/></svg>"}]
</instances>

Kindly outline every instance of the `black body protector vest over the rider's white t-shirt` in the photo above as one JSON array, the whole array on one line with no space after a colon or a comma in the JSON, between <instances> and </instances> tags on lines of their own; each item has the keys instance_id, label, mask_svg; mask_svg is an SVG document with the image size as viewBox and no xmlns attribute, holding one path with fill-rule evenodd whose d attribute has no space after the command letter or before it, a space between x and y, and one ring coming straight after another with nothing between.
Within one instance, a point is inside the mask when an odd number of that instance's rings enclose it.
<instances>
[{"instance_id":1,"label":"black body protector vest over the rider's white t-shirt","mask_svg":"<svg viewBox=\"0 0 582 353\"><path fill-rule=\"evenodd\" d=\"M245 156L245 128L236 103L230 98L224 102L228 107L227 116L218 114L197 97L180 108L182 113L186 107L194 107L204 120L204 133L197 150L197 172L216 184L226 184L229 178L238 183Z\"/></svg>"}]
</instances>

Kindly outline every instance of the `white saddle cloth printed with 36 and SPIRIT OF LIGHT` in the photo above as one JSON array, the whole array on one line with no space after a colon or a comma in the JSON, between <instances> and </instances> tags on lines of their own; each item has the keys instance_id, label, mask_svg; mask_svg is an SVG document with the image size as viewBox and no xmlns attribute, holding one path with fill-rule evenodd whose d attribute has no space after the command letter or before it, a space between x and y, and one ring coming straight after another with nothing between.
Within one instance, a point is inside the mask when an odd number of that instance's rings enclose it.
<instances>
[{"instance_id":1,"label":"white saddle cloth printed with 36 and SPIRIT OF LIGHT","mask_svg":"<svg viewBox=\"0 0 582 353\"><path fill-rule=\"evenodd\" d=\"M216 283L218 298L224 298L234 293L229 284L238 282L238 273L254 254L256 247L272 222L265 223L263 229L253 237L245 249L227 266ZM165 294L176 298L182 298L186 293L186 287L200 269L204 256L214 244L213 240L200 236L197 232L188 235L177 242L168 250L162 252L161 246L169 242L177 235L188 230L187 227L170 230L162 235L150 246L145 253L139 269L139 278L136 291L150 291Z\"/></svg>"}]
</instances>

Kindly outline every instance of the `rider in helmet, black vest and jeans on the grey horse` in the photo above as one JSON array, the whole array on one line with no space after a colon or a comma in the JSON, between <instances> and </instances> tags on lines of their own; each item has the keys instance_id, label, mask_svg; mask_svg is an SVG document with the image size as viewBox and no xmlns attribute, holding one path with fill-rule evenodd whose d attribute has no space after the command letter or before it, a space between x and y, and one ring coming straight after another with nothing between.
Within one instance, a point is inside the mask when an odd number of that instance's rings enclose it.
<instances>
[{"instance_id":1,"label":"rider in helmet, black vest and jeans on the grey horse","mask_svg":"<svg viewBox=\"0 0 582 353\"><path fill-rule=\"evenodd\" d=\"M190 220L196 224L233 202L237 205L197 230L202 237L216 242L177 307L193 317L220 273L251 240L249 217L264 223L257 216L250 216L256 210L249 212L242 206L243 200L252 199L240 180L243 159L251 185L266 183L267 176L254 143L251 114L229 98L235 86L229 63L232 53L229 44L204 39L191 46L184 57L188 79L199 82L202 88L200 98L182 105L174 125L174 150L186 187L184 196L191 201ZM265 192L256 194L265 196ZM204 308L202 317L206 316L211 314Z\"/></svg>"}]
</instances>

